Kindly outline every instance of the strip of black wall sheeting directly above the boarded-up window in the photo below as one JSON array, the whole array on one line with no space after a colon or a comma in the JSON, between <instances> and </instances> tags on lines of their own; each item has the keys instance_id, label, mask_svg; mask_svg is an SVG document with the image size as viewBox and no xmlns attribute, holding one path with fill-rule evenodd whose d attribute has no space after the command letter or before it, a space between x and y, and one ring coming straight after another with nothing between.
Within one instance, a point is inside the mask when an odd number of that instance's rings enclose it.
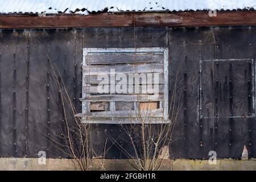
<instances>
[{"instance_id":1,"label":"strip of black wall sheeting directly above the boarded-up window","mask_svg":"<svg viewBox=\"0 0 256 182\"><path fill-rule=\"evenodd\" d=\"M167 47L167 28L84 28L83 46L97 48Z\"/></svg>"}]
</instances>

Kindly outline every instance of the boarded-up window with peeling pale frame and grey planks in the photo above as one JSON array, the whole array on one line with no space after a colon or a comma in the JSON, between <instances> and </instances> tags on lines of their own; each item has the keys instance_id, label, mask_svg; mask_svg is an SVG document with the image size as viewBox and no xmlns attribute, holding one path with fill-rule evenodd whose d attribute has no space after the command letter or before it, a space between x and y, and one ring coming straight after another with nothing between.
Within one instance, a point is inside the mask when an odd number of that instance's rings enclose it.
<instances>
[{"instance_id":1,"label":"boarded-up window with peeling pale frame and grey planks","mask_svg":"<svg viewBox=\"0 0 256 182\"><path fill-rule=\"evenodd\" d=\"M168 122L168 49L83 51L83 122Z\"/></svg>"}]
</instances>

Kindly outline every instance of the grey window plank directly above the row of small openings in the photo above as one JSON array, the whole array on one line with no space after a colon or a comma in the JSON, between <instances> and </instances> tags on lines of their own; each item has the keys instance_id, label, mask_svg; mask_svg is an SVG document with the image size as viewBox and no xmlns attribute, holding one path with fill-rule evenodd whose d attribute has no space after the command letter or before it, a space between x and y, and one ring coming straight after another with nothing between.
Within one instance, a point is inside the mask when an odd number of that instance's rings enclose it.
<instances>
[{"instance_id":1,"label":"grey window plank directly above the row of small openings","mask_svg":"<svg viewBox=\"0 0 256 182\"><path fill-rule=\"evenodd\" d=\"M123 102L150 102L150 101L162 101L163 95L100 95L100 96L88 96L80 98L80 101L89 102L110 102L110 101L123 101Z\"/></svg>"}]
</instances>

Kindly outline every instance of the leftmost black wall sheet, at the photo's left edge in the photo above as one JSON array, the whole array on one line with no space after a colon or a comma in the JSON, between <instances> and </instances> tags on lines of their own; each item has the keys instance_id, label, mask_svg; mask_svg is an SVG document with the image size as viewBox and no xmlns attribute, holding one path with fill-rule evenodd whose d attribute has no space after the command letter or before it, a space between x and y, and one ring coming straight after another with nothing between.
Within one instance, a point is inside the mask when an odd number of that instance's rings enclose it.
<instances>
[{"instance_id":1,"label":"leftmost black wall sheet, at the photo's left edge","mask_svg":"<svg viewBox=\"0 0 256 182\"><path fill-rule=\"evenodd\" d=\"M1 156L24 156L27 32L1 34Z\"/></svg>"}]
</instances>

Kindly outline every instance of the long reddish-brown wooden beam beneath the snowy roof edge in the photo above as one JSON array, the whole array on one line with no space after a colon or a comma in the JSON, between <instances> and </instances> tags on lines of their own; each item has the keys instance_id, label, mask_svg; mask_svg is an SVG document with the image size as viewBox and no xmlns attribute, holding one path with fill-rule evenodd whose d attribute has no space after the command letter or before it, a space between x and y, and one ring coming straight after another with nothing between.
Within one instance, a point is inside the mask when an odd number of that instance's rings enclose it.
<instances>
[{"instance_id":1,"label":"long reddish-brown wooden beam beneath the snowy roof edge","mask_svg":"<svg viewBox=\"0 0 256 182\"><path fill-rule=\"evenodd\" d=\"M57 27L202 27L256 25L255 11L122 13L94 15L1 15L0 28Z\"/></svg>"}]
</instances>

